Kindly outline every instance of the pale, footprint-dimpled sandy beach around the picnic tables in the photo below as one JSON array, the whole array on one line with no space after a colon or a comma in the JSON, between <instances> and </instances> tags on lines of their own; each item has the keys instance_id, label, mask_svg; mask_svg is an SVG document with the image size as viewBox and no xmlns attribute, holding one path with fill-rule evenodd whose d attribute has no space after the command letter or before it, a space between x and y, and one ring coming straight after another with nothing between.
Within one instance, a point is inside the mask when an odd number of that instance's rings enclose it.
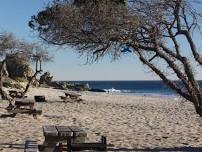
<instances>
[{"instance_id":1,"label":"pale, footprint-dimpled sandy beach around the picnic tables","mask_svg":"<svg viewBox=\"0 0 202 152\"><path fill-rule=\"evenodd\" d=\"M47 103L36 103L43 114L3 117L8 102L0 102L0 151L23 152L26 139L42 144L43 125L78 125L87 130L87 141L107 136L117 149L201 147L202 119L189 102L131 95L80 92L83 103L64 103L63 90L31 88L28 98L45 95Z\"/></svg>"}]
</instances>

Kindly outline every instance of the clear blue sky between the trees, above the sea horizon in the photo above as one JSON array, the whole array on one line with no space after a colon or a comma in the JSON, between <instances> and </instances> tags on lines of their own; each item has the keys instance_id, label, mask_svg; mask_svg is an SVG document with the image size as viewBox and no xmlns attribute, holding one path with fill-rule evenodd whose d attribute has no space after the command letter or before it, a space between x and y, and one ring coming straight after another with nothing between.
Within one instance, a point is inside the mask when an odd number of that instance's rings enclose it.
<instances>
[{"instance_id":1,"label":"clear blue sky between the trees, above the sea horizon","mask_svg":"<svg viewBox=\"0 0 202 152\"><path fill-rule=\"evenodd\" d=\"M17 38L29 42L39 41L36 34L28 27L32 15L43 9L49 0L1 0L0 32L13 32ZM109 58L99 63L85 65L85 58L80 58L71 48L49 48L54 55L54 62L43 64L44 71L49 71L55 80L158 80L158 76L149 72L131 53L111 62ZM201 74L197 75L200 79Z\"/></svg>"}]
</instances>

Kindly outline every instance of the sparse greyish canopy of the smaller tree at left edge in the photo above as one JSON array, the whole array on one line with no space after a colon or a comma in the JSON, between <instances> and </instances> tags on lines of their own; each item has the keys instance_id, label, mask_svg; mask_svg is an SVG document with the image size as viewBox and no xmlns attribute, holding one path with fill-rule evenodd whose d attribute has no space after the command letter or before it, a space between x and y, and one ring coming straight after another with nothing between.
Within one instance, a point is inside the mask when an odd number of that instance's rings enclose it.
<instances>
[{"instance_id":1,"label":"sparse greyish canopy of the smaller tree at left edge","mask_svg":"<svg viewBox=\"0 0 202 152\"><path fill-rule=\"evenodd\" d=\"M0 34L0 58L16 56L19 63L28 63L37 58L43 61L50 61L51 57L41 46L25 41L20 41L12 33ZM37 58L36 58L37 57Z\"/></svg>"}]
</instances>

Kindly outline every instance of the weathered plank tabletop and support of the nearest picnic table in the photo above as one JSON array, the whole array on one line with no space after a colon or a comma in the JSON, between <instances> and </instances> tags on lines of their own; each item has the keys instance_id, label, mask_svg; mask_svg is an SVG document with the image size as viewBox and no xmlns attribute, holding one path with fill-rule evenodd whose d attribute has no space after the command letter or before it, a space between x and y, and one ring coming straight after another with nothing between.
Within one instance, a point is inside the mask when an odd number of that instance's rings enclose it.
<instances>
[{"instance_id":1,"label":"weathered plank tabletop and support of the nearest picnic table","mask_svg":"<svg viewBox=\"0 0 202 152\"><path fill-rule=\"evenodd\" d=\"M84 143L86 131L78 126L43 126L44 152L54 151L58 143Z\"/></svg>"}]
</instances>

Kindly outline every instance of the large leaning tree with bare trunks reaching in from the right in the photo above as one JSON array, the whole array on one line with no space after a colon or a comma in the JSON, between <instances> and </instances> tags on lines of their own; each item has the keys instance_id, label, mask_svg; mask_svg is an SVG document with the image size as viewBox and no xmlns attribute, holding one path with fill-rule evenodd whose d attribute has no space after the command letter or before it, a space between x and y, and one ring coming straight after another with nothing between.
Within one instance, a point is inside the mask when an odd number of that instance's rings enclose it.
<instances>
[{"instance_id":1,"label":"large leaning tree with bare trunks reaching in from the right","mask_svg":"<svg viewBox=\"0 0 202 152\"><path fill-rule=\"evenodd\" d=\"M201 14L195 0L57 0L33 16L29 26L55 45L71 45L88 61L117 59L127 48L163 82L192 102L202 116L196 65ZM198 32L197 32L198 31ZM185 45L185 46L183 46ZM178 81L172 81L170 75Z\"/></svg>"}]
</instances>

